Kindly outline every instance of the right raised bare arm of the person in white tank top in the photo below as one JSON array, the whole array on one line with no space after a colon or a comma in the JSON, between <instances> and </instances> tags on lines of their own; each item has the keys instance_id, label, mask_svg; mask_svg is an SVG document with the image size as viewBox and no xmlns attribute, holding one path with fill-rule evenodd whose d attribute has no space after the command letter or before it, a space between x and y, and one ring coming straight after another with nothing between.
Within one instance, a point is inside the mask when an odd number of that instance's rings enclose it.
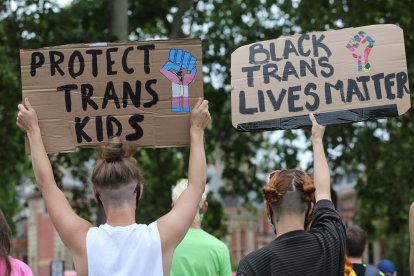
<instances>
[{"instance_id":1,"label":"right raised bare arm of the person in white tank top","mask_svg":"<svg viewBox=\"0 0 414 276\"><path fill-rule=\"evenodd\" d=\"M181 194L171 211L157 221L164 260L166 261L172 257L175 247L180 243L193 222L206 184L204 129L210 122L206 100L198 100L191 112L190 121L191 144L188 164L188 188Z\"/></svg>"}]
</instances>

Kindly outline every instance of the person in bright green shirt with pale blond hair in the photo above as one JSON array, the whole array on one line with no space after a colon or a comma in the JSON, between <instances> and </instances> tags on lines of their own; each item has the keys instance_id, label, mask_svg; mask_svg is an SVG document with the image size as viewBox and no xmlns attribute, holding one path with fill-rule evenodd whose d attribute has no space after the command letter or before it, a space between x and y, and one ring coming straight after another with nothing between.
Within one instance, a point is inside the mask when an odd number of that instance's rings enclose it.
<instances>
[{"instance_id":1,"label":"person in bright green shirt with pale blond hair","mask_svg":"<svg viewBox=\"0 0 414 276\"><path fill-rule=\"evenodd\" d=\"M172 189L172 206L187 189L187 179L181 179ZM231 264L227 246L201 229L207 212L208 187L201 196L194 221L184 239L175 249L171 276L230 276Z\"/></svg>"}]
</instances>

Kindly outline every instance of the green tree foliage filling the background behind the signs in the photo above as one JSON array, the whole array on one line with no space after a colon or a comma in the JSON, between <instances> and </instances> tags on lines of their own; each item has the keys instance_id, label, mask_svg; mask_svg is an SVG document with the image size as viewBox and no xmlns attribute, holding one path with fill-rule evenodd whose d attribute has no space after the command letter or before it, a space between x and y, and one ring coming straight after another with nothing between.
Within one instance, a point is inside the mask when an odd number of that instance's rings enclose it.
<instances>
[{"instance_id":1,"label":"green tree foliage filling the background behind the signs","mask_svg":"<svg viewBox=\"0 0 414 276\"><path fill-rule=\"evenodd\" d=\"M11 11L10 1L0 1L0 207L9 219L19 210L15 187L30 176L30 166L23 155L23 135L15 126L16 105L21 100L18 49L116 40L109 31L110 2L76 0L59 9L50 0L14 1L18 7ZM131 37L169 37L180 1L131 0L129 5ZM298 166L302 152L294 143L299 137L298 131L283 132L273 141L273 135L237 133L232 128L230 56L236 48L297 32L398 24L404 30L408 70L413 76L413 6L413 0L193 1L184 11L184 33L203 39L204 90L213 118L206 132L206 152L209 163L220 161L225 165L222 194L239 195L249 202L248 193L255 191L260 201L263 174L285 166ZM413 78L410 85L414 87ZM408 260L409 244L404 247L401 241L407 240L408 207L414 199L411 188L413 116L409 112L401 118L331 126L326 131L333 171L337 175L345 172L358 175L360 224L371 238L389 237L388 248L393 250L389 255L399 262L403 275L408 268L404 260ZM58 180L62 177L61 169L68 169L85 183L76 192L75 204L85 216L90 215L85 162L91 157L89 150L52 157ZM137 160L146 176L138 218L150 222L169 210L171 185L186 176L188 149L142 149L137 153ZM217 215L215 219L210 217L213 214ZM205 228L222 236L222 218L219 204L210 199ZM398 250L399 246L403 249Z\"/></svg>"}]
</instances>

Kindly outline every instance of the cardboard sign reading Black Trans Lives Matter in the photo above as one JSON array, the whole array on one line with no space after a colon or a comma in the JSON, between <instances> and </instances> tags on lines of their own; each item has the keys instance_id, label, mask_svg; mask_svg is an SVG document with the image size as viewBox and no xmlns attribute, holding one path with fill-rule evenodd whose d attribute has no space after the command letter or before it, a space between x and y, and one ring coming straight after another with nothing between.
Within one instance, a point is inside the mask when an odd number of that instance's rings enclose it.
<instances>
[{"instance_id":1,"label":"cardboard sign reading Black Trans Lives Matter","mask_svg":"<svg viewBox=\"0 0 414 276\"><path fill-rule=\"evenodd\" d=\"M231 56L233 126L241 131L398 116L410 108L404 37L395 25L257 42Z\"/></svg>"}]
</instances>

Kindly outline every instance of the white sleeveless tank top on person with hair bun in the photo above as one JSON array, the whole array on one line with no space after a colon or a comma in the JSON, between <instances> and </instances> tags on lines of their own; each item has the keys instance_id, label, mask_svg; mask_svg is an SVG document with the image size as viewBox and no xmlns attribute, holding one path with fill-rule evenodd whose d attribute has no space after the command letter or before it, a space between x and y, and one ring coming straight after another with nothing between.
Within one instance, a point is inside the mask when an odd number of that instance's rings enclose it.
<instances>
[{"instance_id":1,"label":"white sleeveless tank top on person with hair bun","mask_svg":"<svg viewBox=\"0 0 414 276\"><path fill-rule=\"evenodd\" d=\"M92 227L86 236L86 250L90 276L163 276L157 222Z\"/></svg>"}]
</instances>

